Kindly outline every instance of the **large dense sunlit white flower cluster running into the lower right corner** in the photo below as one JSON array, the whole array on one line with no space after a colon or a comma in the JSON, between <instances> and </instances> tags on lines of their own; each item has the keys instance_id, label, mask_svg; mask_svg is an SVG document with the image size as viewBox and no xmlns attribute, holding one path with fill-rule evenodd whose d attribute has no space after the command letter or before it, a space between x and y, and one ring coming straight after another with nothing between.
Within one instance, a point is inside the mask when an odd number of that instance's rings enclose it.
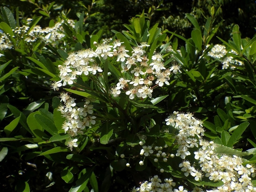
<instances>
[{"instance_id":1,"label":"large dense sunlit white flower cluster running into the lower right corner","mask_svg":"<svg viewBox=\"0 0 256 192\"><path fill-rule=\"evenodd\" d=\"M216 144L213 141L201 139L201 136L204 135L202 121L195 119L191 113L179 112L174 112L165 121L167 125L172 125L179 131L176 136L179 146L176 156L184 159L179 167L186 177L191 175L195 177L196 181L200 181L205 176L209 180L223 181L224 185L213 189L214 192L252 192L256 190L251 182L251 176L255 177L255 167L250 164L243 166L241 157L216 154ZM198 142L200 147L198 151L194 152L195 162L191 164L185 159L190 155L188 148L198 147Z\"/></svg>"}]
</instances>

